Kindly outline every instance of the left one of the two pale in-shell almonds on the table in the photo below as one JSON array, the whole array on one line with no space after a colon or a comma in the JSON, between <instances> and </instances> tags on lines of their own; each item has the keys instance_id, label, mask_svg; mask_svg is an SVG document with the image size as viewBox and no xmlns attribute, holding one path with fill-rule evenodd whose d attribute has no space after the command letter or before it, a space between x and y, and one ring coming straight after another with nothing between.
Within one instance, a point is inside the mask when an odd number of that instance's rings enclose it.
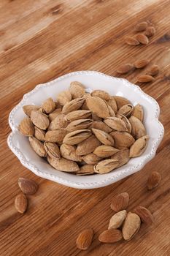
<instances>
[{"instance_id":1,"label":"left one of the two pale in-shell almonds on the table","mask_svg":"<svg viewBox=\"0 0 170 256\"><path fill-rule=\"evenodd\" d=\"M109 220L109 227L108 230L119 228L121 225L123 225L123 222L125 220L125 217L127 216L127 211L118 211L116 214L112 216L112 218Z\"/></svg>"}]
</instances>

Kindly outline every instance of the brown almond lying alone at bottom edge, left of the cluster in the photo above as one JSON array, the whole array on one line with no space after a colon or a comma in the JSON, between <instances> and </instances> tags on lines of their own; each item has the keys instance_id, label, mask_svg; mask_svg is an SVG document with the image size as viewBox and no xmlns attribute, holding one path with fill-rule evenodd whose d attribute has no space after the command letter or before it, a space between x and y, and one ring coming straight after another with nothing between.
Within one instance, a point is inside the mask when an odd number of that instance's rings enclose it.
<instances>
[{"instance_id":1,"label":"brown almond lying alone at bottom edge, left of the cluster","mask_svg":"<svg viewBox=\"0 0 170 256\"><path fill-rule=\"evenodd\" d=\"M86 230L83 230L77 237L77 241L76 241L77 248L83 249L83 250L88 249L88 247L92 243L92 240L93 240L93 229L88 228Z\"/></svg>"}]
</instances>

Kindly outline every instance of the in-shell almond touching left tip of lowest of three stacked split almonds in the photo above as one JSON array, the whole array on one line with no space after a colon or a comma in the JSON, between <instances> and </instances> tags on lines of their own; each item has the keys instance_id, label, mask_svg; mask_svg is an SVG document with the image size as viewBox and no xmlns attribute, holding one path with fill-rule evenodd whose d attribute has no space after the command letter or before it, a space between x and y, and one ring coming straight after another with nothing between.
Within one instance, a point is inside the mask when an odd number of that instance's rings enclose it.
<instances>
[{"instance_id":1,"label":"in-shell almond touching left tip of lowest of three stacked split almonds","mask_svg":"<svg viewBox=\"0 0 170 256\"><path fill-rule=\"evenodd\" d=\"M48 131L45 134L45 140L48 142L62 143L63 138L66 136L66 129L55 129L53 131Z\"/></svg>"}]
</instances>

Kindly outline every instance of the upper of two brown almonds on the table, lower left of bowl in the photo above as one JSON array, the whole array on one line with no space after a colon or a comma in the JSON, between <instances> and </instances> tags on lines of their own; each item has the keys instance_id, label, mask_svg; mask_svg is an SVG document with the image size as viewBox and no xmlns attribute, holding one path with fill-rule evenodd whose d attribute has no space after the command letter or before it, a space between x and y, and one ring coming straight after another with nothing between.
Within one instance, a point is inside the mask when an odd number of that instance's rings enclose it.
<instances>
[{"instance_id":1,"label":"upper of two brown almonds on the table, lower left of bowl","mask_svg":"<svg viewBox=\"0 0 170 256\"><path fill-rule=\"evenodd\" d=\"M24 194L28 195L34 195L38 190L36 182L28 178L18 178L18 186Z\"/></svg>"}]
</instances>

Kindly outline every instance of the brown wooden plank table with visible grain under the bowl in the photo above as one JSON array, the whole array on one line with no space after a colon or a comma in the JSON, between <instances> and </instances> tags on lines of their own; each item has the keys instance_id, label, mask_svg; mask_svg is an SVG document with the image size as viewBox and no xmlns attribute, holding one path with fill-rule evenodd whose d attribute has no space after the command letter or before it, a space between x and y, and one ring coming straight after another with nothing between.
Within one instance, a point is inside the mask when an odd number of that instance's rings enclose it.
<instances>
[{"instance_id":1,"label":"brown wooden plank table with visible grain under the bowl","mask_svg":"<svg viewBox=\"0 0 170 256\"><path fill-rule=\"evenodd\" d=\"M143 20L156 28L149 45L125 45L125 36L133 34L136 23ZM169 26L169 0L0 1L1 256L170 255ZM109 187L78 190L34 176L9 151L9 111L37 83L75 70L116 75L118 65L143 58L161 67L154 83L139 86L157 99L165 136L156 157L142 171ZM136 83L136 76L142 72L123 77ZM148 192L146 181L152 170L161 173L162 181L158 189ZM23 215L14 207L20 176L39 184ZM107 228L113 214L110 201L119 192L129 193L129 211L138 205L150 208L155 224L143 225L129 242L100 244L98 235ZM90 249L83 252L76 248L75 241L86 227L93 227L95 236Z\"/></svg>"}]
</instances>

